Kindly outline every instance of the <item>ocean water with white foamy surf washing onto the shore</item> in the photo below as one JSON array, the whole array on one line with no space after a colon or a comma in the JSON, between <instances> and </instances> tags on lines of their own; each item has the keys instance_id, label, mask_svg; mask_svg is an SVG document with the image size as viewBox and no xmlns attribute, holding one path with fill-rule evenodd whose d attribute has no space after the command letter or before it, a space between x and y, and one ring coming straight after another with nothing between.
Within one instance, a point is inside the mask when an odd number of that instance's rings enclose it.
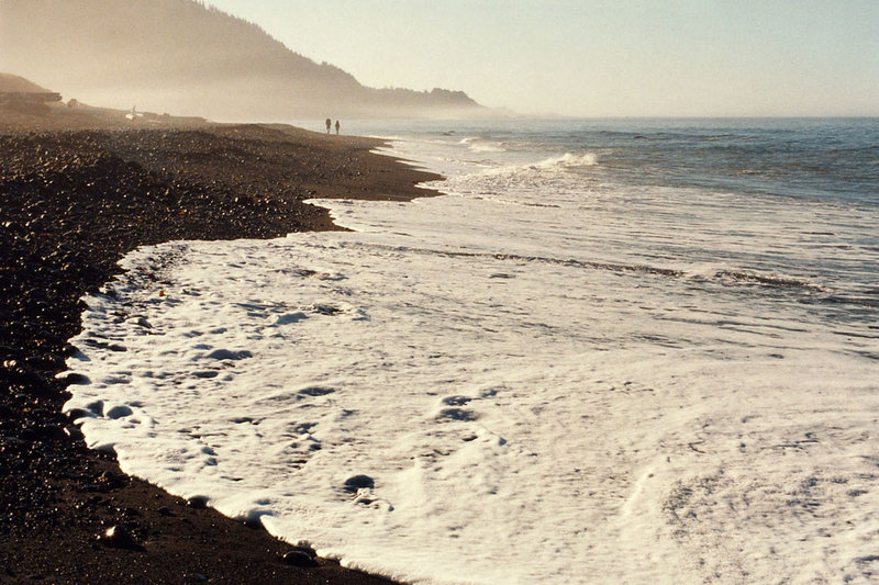
<instances>
[{"instance_id":1,"label":"ocean water with white foamy surf washing onto the shore","mask_svg":"<svg viewBox=\"0 0 879 585\"><path fill-rule=\"evenodd\" d=\"M879 580L879 121L345 130L445 195L129 255L90 446L409 582Z\"/></svg>"}]
</instances>

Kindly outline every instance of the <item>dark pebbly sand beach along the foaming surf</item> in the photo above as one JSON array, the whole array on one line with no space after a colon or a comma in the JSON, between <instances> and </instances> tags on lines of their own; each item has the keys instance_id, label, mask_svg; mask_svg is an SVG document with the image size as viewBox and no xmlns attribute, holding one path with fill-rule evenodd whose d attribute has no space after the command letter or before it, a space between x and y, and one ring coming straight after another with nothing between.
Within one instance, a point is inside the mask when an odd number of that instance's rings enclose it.
<instances>
[{"instance_id":1,"label":"dark pebbly sand beach along the foaming surf","mask_svg":"<svg viewBox=\"0 0 879 585\"><path fill-rule=\"evenodd\" d=\"M0 582L387 583L125 476L62 414L75 380L56 379L76 351L80 297L135 247L334 229L302 201L425 194L414 185L435 177L369 153L379 145L0 111Z\"/></svg>"}]
</instances>

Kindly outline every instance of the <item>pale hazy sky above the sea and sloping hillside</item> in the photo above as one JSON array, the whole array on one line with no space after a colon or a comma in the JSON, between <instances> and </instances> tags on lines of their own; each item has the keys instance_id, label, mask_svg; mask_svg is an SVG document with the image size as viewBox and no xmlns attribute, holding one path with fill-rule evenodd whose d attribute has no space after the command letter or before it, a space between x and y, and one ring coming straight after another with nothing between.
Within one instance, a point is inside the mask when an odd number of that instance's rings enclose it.
<instances>
[{"instance_id":1,"label":"pale hazy sky above the sea and sloping hillside","mask_svg":"<svg viewBox=\"0 0 879 585\"><path fill-rule=\"evenodd\" d=\"M879 115L879 0L208 0L371 87L568 115Z\"/></svg>"}]
</instances>

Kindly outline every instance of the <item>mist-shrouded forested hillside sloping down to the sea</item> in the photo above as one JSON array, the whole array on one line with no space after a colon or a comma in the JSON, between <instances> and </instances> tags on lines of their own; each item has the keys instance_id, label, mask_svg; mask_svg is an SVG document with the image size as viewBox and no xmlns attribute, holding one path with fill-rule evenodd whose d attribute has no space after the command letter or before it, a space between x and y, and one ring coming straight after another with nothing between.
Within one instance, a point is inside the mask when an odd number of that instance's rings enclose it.
<instances>
[{"instance_id":1,"label":"mist-shrouded forested hillside sloping down to the sea","mask_svg":"<svg viewBox=\"0 0 879 585\"><path fill-rule=\"evenodd\" d=\"M66 98L221 120L483 111L460 91L364 87L193 0L0 0L0 70Z\"/></svg>"}]
</instances>

